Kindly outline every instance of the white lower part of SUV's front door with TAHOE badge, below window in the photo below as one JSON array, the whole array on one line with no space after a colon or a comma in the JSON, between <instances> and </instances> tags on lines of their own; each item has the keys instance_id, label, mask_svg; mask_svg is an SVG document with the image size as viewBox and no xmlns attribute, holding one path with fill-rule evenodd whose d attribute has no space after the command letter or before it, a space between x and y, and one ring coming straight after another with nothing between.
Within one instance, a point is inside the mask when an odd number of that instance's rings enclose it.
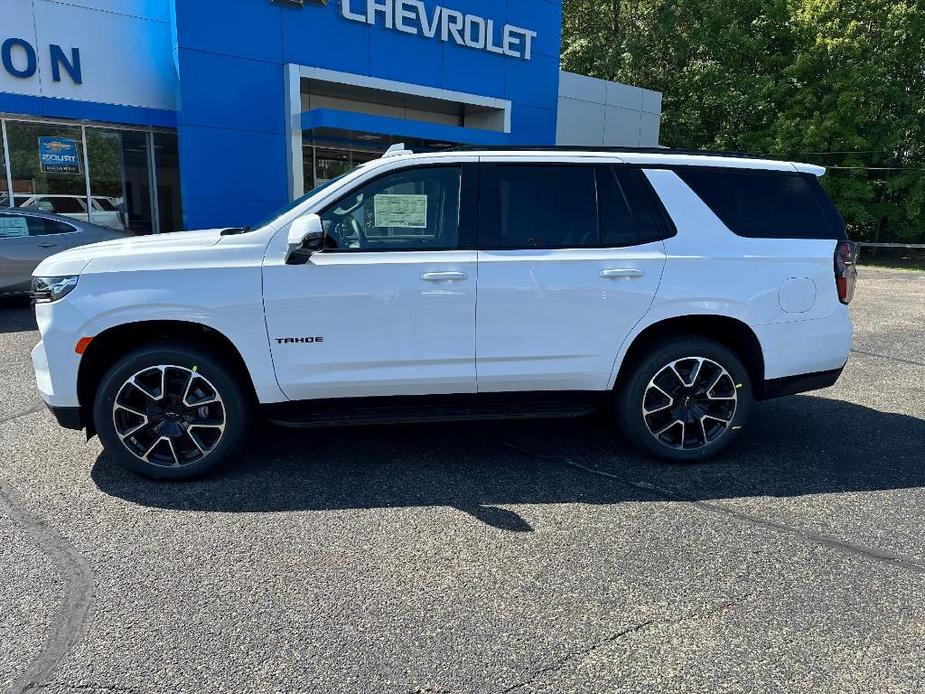
<instances>
[{"instance_id":1,"label":"white lower part of SUV's front door with TAHOE badge, below window","mask_svg":"<svg viewBox=\"0 0 925 694\"><path fill-rule=\"evenodd\" d=\"M318 253L266 266L280 388L291 400L475 392L477 270L475 251Z\"/></svg>"}]
</instances>

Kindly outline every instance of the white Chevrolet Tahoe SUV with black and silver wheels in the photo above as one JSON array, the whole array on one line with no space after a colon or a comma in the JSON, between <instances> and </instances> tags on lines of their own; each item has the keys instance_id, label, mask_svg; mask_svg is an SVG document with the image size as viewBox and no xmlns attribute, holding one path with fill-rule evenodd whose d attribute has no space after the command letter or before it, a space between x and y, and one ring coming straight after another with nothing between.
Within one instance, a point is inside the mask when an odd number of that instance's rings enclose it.
<instances>
[{"instance_id":1,"label":"white Chevrolet Tahoe SUV with black and silver wheels","mask_svg":"<svg viewBox=\"0 0 925 694\"><path fill-rule=\"evenodd\" d=\"M252 229L35 271L39 390L184 478L296 426L562 417L699 461L755 399L835 383L854 247L815 166L673 150L400 147Z\"/></svg>"}]
</instances>

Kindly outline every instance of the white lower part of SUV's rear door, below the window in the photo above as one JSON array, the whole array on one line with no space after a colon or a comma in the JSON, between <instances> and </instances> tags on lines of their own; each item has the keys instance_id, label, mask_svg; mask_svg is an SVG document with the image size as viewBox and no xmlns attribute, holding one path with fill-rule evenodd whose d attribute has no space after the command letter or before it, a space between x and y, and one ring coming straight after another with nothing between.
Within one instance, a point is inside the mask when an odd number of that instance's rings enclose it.
<instances>
[{"instance_id":1,"label":"white lower part of SUV's rear door, below the window","mask_svg":"<svg viewBox=\"0 0 925 694\"><path fill-rule=\"evenodd\" d=\"M660 241L481 251L479 392L606 389L620 345L648 311L664 265Z\"/></svg>"}]
</instances>

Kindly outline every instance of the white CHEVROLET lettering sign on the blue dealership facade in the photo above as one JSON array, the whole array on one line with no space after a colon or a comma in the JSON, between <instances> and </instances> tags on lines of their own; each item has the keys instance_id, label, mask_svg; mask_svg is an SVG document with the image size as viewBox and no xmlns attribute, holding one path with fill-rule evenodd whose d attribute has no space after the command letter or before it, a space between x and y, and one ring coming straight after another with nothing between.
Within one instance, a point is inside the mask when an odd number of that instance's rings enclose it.
<instances>
[{"instance_id":1,"label":"white CHEVROLET lettering sign on the blue dealership facade","mask_svg":"<svg viewBox=\"0 0 925 694\"><path fill-rule=\"evenodd\" d=\"M440 5L429 10L422 0L341 0L341 14L354 22L523 60L533 57L537 36L530 29Z\"/></svg>"}]
</instances>

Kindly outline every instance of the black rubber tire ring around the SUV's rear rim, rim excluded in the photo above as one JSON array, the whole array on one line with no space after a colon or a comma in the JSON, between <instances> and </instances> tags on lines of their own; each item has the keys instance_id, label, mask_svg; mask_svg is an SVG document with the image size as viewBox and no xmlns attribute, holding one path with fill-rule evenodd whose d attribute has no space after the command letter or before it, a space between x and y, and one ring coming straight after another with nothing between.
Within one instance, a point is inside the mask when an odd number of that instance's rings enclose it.
<instances>
[{"instance_id":1,"label":"black rubber tire ring around the SUV's rear rim, rim excluded","mask_svg":"<svg viewBox=\"0 0 925 694\"><path fill-rule=\"evenodd\" d=\"M716 441L693 450L678 450L660 443L649 431L642 402L652 378L666 365L686 357L706 357L721 365L733 378L737 390L736 412L727 430ZM617 398L617 418L623 432L644 452L676 462L700 462L729 446L745 426L753 404L752 382L741 359L727 347L700 337L673 339L632 365Z\"/></svg>"}]
</instances>

